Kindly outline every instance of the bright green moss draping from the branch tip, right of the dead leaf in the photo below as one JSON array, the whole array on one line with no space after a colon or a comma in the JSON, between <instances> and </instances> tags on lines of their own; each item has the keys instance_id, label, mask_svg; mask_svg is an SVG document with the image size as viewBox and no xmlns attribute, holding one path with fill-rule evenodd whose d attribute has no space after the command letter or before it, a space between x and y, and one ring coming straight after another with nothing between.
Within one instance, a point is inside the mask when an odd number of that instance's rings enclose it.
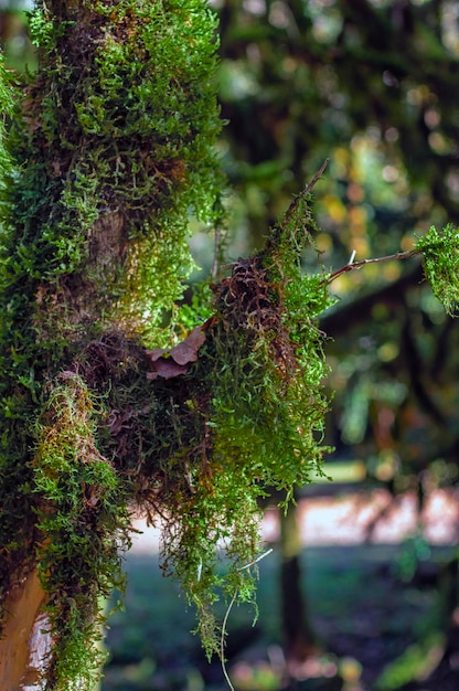
<instances>
[{"instance_id":1,"label":"bright green moss draping from the branch tip, right of the dead leaf","mask_svg":"<svg viewBox=\"0 0 459 691\"><path fill-rule=\"evenodd\" d=\"M194 436L168 461L167 477L181 479L161 495L163 561L198 607L207 653L220 646L215 599L254 596L256 573L243 566L259 549L259 499L276 488L288 501L295 483L320 471L325 450L327 366L314 320L330 297L322 276L302 276L312 230L306 209L300 196L266 249L214 287L205 343L182 379L189 408L184 417L177 408L175 424ZM218 550L228 557L224 574Z\"/></svg>"}]
</instances>

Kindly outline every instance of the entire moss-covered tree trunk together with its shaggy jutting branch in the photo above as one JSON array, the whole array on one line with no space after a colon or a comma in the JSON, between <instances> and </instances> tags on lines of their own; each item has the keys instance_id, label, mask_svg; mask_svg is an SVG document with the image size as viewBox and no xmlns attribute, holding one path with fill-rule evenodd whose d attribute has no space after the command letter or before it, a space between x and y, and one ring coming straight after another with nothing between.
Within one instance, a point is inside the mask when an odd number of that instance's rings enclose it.
<instances>
[{"instance_id":1,"label":"entire moss-covered tree trunk together with its shaggy jutting branch","mask_svg":"<svg viewBox=\"0 0 459 691\"><path fill-rule=\"evenodd\" d=\"M253 596L263 487L321 458L328 294L301 277L303 194L177 307L189 214L220 217L205 0L50 0L31 26L39 71L0 149L0 679L58 691L96 683L132 507L164 520L164 572L220 649L210 608Z\"/></svg>"}]
</instances>

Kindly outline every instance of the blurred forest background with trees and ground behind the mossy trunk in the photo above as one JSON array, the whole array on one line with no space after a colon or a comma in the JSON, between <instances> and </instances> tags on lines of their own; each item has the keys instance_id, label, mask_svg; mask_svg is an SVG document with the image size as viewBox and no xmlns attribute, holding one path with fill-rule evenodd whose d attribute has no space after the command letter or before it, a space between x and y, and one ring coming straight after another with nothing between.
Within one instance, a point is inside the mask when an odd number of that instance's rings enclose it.
<instances>
[{"instance_id":1,"label":"blurred forest background with trees and ground behind the mossy trunk","mask_svg":"<svg viewBox=\"0 0 459 691\"><path fill-rule=\"evenodd\" d=\"M453 0L214 0L220 15L218 148L228 178L227 259L269 227L325 158L314 188L325 269L413 247L459 223L459 3ZM8 66L33 71L28 7L0 1ZM196 227L195 279L213 238ZM321 272L316 253L305 270ZM417 259L340 276L327 334L334 392L332 479L266 507L259 616L233 608L235 689L459 689L459 322ZM145 524L139 519L139 529ZM220 691L217 660L161 577L158 531L127 555L126 612L110 619L103 691ZM114 596L114 603L117 596ZM221 616L226 605L222 603Z\"/></svg>"}]
</instances>

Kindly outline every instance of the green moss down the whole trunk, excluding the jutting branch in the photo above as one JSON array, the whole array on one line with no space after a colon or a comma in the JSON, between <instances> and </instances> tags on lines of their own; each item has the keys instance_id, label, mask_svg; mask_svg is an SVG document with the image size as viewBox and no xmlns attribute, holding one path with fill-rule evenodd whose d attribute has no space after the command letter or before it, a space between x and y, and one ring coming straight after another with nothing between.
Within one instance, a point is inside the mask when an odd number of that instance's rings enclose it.
<instances>
[{"instance_id":1,"label":"green moss down the whole trunk, excluding the jutting branch","mask_svg":"<svg viewBox=\"0 0 459 691\"><path fill-rule=\"evenodd\" d=\"M55 0L32 29L39 71L11 119L14 170L0 149L0 599L38 557L54 690L92 683L128 501L145 502L163 474L166 432L156 435L170 418L156 412L174 406L166 393L151 404L138 343L171 339L161 319L192 265L189 214L216 213L221 123L204 0ZM114 330L128 346L109 364ZM114 427L122 405L129 448Z\"/></svg>"}]
</instances>

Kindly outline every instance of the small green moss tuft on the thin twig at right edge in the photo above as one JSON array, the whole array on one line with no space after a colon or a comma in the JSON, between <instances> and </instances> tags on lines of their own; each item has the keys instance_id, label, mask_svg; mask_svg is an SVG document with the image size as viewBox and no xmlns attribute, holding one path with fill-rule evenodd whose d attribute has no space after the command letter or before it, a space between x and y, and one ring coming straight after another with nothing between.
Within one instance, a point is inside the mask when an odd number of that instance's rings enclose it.
<instances>
[{"instance_id":1,"label":"small green moss tuft on the thin twig at right edge","mask_svg":"<svg viewBox=\"0 0 459 691\"><path fill-rule=\"evenodd\" d=\"M416 249L423 252L424 270L434 295L453 316L459 305L459 230L452 223L441 231L435 226L420 237Z\"/></svg>"}]
</instances>

